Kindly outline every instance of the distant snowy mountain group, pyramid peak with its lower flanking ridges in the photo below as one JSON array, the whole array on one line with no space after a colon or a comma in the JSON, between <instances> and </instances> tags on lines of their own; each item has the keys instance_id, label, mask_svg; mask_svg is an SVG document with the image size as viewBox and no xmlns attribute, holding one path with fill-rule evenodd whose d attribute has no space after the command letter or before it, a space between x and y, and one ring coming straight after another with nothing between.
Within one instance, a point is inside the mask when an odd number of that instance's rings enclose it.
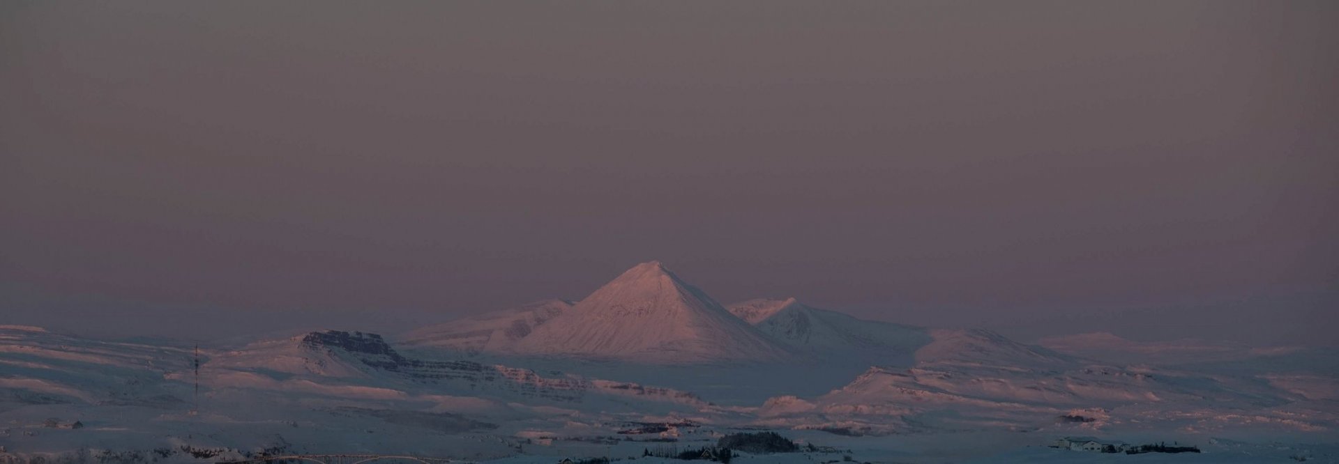
<instances>
[{"instance_id":1,"label":"distant snowy mountain group, pyramid peak with its lower flanking ridges","mask_svg":"<svg viewBox=\"0 0 1339 464\"><path fill-rule=\"evenodd\" d=\"M866 321L795 298L750 300L726 309L659 262L627 270L577 304L540 301L427 326L399 340L411 348L643 364L817 360L864 368L909 366L919 360L1065 358L987 330Z\"/></svg>"}]
</instances>

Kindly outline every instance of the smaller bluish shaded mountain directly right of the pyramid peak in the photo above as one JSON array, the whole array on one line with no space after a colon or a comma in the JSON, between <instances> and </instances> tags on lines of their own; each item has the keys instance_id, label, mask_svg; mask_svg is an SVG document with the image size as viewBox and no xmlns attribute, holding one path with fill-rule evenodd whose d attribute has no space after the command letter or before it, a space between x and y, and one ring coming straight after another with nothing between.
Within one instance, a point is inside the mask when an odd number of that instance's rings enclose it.
<instances>
[{"instance_id":1,"label":"smaller bluish shaded mountain directly right of the pyramid peak","mask_svg":"<svg viewBox=\"0 0 1339 464\"><path fill-rule=\"evenodd\" d=\"M750 300L730 305L730 312L791 349L826 361L907 364L932 341L924 328L858 320L795 298Z\"/></svg>"}]
</instances>

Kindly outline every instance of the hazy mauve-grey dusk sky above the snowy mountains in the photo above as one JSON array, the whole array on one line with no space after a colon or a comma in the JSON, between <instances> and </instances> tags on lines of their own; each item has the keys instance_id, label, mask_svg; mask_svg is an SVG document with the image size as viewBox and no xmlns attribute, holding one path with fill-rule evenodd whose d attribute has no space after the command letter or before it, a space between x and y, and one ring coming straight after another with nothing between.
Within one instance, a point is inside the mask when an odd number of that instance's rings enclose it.
<instances>
[{"instance_id":1,"label":"hazy mauve-grey dusk sky above the snowy mountains","mask_svg":"<svg viewBox=\"0 0 1339 464\"><path fill-rule=\"evenodd\" d=\"M1335 23L1334 1L7 1L0 324L396 333L659 259L726 304L1335 345Z\"/></svg>"}]
</instances>

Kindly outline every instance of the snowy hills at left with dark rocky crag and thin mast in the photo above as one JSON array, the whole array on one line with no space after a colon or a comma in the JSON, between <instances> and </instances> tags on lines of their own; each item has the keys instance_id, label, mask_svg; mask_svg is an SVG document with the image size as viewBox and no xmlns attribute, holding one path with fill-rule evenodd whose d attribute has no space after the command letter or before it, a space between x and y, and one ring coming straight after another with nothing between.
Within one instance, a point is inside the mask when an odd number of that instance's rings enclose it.
<instances>
[{"instance_id":1,"label":"snowy hills at left with dark rocky crag and thin mast","mask_svg":"<svg viewBox=\"0 0 1339 464\"><path fill-rule=\"evenodd\" d=\"M482 459L516 453L528 428L716 411L670 388L412 357L372 333L202 349L198 376L193 357L189 348L0 326L0 460L83 447L161 449L173 457L165 461L190 461L187 448L224 452L218 459L261 448Z\"/></svg>"}]
</instances>

